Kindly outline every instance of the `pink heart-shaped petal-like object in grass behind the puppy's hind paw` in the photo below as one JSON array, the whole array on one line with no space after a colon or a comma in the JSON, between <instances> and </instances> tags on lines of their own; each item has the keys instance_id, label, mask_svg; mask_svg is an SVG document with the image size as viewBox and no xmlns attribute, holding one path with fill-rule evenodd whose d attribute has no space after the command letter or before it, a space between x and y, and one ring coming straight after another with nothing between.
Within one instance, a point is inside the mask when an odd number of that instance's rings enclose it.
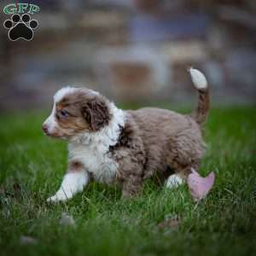
<instances>
[{"instance_id":1,"label":"pink heart-shaped petal-like object in grass behind the puppy's hind paw","mask_svg":"<svg viewBox=\"0 0 256 256\"><path fill-rule=\"evenodd\" d=\"M193 168L191 171L188 177L189 190L195 201L201 201L212 189L215 175L211 172L207 177L201 177Z\"/></svg>"}]
</instances>

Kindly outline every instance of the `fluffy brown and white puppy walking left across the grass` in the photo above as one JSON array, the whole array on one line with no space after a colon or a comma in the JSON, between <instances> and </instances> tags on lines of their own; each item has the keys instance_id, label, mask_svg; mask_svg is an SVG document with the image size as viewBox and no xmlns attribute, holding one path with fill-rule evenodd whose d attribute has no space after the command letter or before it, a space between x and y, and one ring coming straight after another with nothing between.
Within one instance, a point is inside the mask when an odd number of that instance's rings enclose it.
<instances>
[{"instance_id":1,"label":"fluffy brown and white puppy walking left across the grass","mask_svg":"<svg viewBox=\"0 0 256 256\"><path fill-rule=\"evenodd\" d=\"M61 188L48 201L66 201L91 180L120 184L124 197L136 195L143 181L156 175L168 188L185 182L204 154L201 126L209 111L207 79L196 69L189 73L199 92L194 114L125 111L94 90L58 90L43 130L67 140L68 167Z\"/></svg>"}]
</instances>

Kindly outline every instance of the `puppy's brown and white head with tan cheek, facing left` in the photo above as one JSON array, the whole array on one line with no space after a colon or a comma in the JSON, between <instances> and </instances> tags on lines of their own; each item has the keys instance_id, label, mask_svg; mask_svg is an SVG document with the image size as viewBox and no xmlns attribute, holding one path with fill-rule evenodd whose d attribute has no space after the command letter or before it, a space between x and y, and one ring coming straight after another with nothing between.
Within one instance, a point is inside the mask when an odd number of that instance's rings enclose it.
<instances>
[{"instance_id":1,"label":"puppy's brown and white head with tan cheek, facing left","mask_svg":"<svg viewBox=\"0 0 256 256\"><path fill-rule=\"evenodd\" d=\"M65 87L55 93L43 130L49 137L69 140L82 132L100 131L111 118L105 97L94 90Z\"/></svg>"}]
</instances>

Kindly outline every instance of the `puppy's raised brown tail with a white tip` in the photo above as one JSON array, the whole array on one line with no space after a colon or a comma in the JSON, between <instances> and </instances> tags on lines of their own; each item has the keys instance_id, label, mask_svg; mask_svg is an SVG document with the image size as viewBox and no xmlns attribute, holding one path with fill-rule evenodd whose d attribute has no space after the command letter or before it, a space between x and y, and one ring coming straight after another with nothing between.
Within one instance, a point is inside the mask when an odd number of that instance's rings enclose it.
<instances>
[{"instance_id":1,"label":"puppy's raised brown tail with a white tip","mask_svg":"<svg viewBox=\"0 0 256 256\"><path fill-rule=\"evenodd\" d=\"M203 73L201 73L199 70L193 67L189 68L189 73L192 82L199 93L198 105L193 117L199 125L202 125L207 119L207 115L209 113L210 108L210 98L207 79Z\"/></svg>"}]
</instances>

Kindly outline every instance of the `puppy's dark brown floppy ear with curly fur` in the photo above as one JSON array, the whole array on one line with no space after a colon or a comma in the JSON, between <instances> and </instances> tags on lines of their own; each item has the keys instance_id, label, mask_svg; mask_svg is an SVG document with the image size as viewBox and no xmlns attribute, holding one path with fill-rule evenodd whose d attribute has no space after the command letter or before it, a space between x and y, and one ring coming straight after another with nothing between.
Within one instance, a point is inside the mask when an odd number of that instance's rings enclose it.
<instances>
[{"instance_id":1,"label":"puppy's dark brown floppy ear with curly fur","mask_svg":"<svg viewBox=\"0 0 256 256\"><path fill-rule=\"evenodd\" d=\"M83 107L82 113L84 119L90 125L91 131L99 131L105 125L108 125L110 113L107 103L103 99L93 99L87 102Z\"/></svg>"}]
</instances>

